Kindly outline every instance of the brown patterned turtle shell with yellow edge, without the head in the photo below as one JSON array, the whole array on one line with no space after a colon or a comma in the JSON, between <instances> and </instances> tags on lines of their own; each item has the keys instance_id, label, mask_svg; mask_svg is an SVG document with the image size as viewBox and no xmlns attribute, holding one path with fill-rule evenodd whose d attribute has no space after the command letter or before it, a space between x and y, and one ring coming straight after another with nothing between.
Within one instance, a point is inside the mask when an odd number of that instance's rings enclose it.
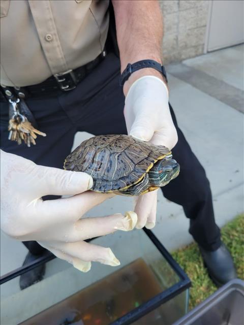
<instances>
[{"instance_id":1,"label":"brown patterned turtle shell with yellow edge, without the head","mask_svg":"<svg viewBox=\"0 0 244 325\"><path fill-rule=\"evenodd\" d=\"M167 154L168 148L131 136L95 136L68 155L64 168L92 176L95 191L118 191L140 181Z\"/></svg>"}]
</instances>

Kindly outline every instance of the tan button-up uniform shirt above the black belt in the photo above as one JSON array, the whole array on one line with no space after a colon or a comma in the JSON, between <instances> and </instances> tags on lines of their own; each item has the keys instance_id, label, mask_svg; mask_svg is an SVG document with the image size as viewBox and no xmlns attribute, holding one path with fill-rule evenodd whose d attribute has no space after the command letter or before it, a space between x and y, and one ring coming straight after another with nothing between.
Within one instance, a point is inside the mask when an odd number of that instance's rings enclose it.
<instances>
[{"instance_id":1,"label":"tan button-up uniform shirt above the black belt","mask_svg":"<svg viewBox=\"0 0 244 325\"><path fill-rule=\"evenodd\" d=\"M94 60L106 41L108 4L1 0L1 84L37 84Z\"/></svg>"}]
</instances>

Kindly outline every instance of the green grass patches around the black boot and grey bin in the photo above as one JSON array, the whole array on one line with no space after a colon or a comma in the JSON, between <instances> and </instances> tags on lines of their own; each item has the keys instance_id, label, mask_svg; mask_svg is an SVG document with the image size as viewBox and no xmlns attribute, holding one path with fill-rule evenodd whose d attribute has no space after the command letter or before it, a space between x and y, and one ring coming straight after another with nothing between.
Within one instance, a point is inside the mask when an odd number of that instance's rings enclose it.
<instances>
[{"instance_id":1,"label":"green grass patches around the black boot and grey bin","mask_svg":"<svg viewBox=\"0 0 244 325\"><path fill-rule=\"evenodd\" d=\"M222 240L233 256L238 278L244 279L244 214L238 215L221 230ZM174 259L185 270L192 281L189 309L217 290L209 279L196 243L172 253Z\"/></svg>"}]
</instances>

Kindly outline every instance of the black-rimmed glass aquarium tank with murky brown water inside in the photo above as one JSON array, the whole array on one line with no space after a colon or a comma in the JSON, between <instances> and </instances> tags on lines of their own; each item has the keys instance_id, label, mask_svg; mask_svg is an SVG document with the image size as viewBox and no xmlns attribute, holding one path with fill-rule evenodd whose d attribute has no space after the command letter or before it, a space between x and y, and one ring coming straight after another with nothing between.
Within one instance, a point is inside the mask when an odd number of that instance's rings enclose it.
<instances>
[{"instance_id":1,"label":"black-rimmed glass aquarium tank with murky brown water inside","mask_svg":"<svg viewBox=\"0 0 244 325\"><path fill-rule=\"evenodd\" d=\"M93 263L82 273L50 253L45 278L20 290L15 270L1 278L1 323L21 325L172 324L188 311L191 282L147 230L92 240L110 247L120 266Z\"/></svg>"}]
</instances>

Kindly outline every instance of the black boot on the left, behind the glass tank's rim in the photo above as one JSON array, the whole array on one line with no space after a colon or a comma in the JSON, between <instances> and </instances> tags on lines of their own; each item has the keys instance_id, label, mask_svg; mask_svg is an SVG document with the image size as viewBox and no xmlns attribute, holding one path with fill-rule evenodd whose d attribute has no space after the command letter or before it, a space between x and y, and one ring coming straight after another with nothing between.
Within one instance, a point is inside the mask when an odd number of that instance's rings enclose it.
<instances>
[{"instance_id":1,"label":"black boot on the left, behind the glass tank's rim","mask_svg":"<svg viewBox=\"0 0 244 325\"><path fill-rule=\"evenodd\" d=\"M28 252L28 254L25 257L23 265L34 262L35 259L40 258L41 256L42 255L33 255L31 252ZM45 274L45 264L42 264L37 268L32 269L31 271L28 271L24 274L21 274L19 279L20 289L23 290L28 286L41 281L43 279L44 274Z\"/></svg>"}]
</instances>

